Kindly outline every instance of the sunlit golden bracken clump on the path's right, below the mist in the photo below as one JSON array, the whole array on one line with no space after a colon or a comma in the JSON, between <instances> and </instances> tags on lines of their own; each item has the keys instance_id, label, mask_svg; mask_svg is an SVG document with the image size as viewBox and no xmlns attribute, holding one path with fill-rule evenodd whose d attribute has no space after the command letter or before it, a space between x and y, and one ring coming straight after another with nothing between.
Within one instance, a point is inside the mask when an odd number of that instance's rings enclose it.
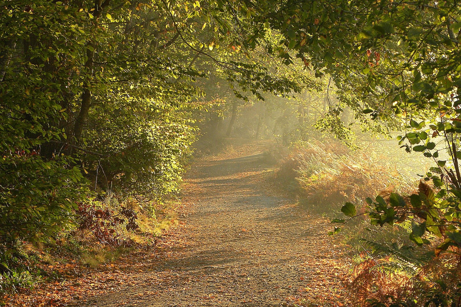
<instances>
[{"instance_id":1,"label":"sunlit golden bracken clump on the path's right, below the mist","mask_svg":"<svg viewBox=\"0 0 461 307\"><path fill-rule=\"evenodd\" d=\"M336 140L298 143L276 175L302 205L317 212L337 211L346 201L363 205L366 197L385 191L408 193L417 185L385 156L352 150Z\"/></svg>"}]
</instances>

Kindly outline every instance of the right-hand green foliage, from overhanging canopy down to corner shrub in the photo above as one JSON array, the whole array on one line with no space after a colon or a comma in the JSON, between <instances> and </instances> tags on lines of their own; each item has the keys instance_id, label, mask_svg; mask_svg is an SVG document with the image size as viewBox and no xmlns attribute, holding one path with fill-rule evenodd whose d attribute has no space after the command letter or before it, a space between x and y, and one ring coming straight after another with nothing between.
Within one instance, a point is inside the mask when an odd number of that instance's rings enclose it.
<instances>
[{"instance_id":1,"label":"right-hand green foliage, from overhanging canopy down to corner shrub","mask_svg":"<svg viewBox=\"0 0 461 307\"><path fill-rule=\"evenodd\" d=\"M265 1L253 5L263 12L255 19L284 35L284 46L277 53L287 64L295 57L305 59L316 76L330 75L344 96L349 96L341 98L340 92L339 103L320 128L331 127L347 140L350 133L334 112L341 112L343 103L365 127L372 120L389 130L405 131L398 138L402 148L434 162L422 179L431 180L437 191L422 183L419 192L408 197L378 196L369 199L367 214L378 227L409 223L414 245L428 250L436 245L435 255L446 260L440 274L456 271L451 254L459 254L461 247L460 4L422 0ZM354 211L350 203L343 207L346 215ZM418 303L456 306L458 289L453 282L447 287L427 291Z\"/></svg>"}]
</instances>

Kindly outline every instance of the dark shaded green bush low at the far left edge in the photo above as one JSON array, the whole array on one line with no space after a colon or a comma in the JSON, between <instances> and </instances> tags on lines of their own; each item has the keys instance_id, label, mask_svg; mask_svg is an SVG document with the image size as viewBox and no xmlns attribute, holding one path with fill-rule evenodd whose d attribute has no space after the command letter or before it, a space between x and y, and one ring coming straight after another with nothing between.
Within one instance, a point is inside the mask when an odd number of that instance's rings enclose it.
<instances>
[{"instance_id":1,"label":"dark shaded green bush low at the far left edge","mask_svg":"<svg viewBox=\"0 0 461 307\"><path fill-rule=\"evenodd\" d=\"M47 241L75 226L77 203L90 197L77 167L59 156L45 160L27 151L4 151L0 159L0 240ZM5 250L6 249L6 250Z\"/></svg>"}]
</instances>

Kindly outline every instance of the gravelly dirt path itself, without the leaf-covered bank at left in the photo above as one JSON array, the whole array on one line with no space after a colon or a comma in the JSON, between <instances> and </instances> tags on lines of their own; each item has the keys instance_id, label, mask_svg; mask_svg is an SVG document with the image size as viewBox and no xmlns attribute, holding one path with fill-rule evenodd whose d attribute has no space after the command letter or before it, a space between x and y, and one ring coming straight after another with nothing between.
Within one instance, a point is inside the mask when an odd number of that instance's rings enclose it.
<instances>
[{"instance_id":1,"label":"gravelly dirt path itself, without the leaf-covered bank at left","mask_svg":"<svg viewBox=\"0 0 461 307\"><path fill-rule=\"evenodd\" d=\"M195 208L183 247L87 306L346 304L339 280L349 260L327 237L331 224L269 192L273 171L261 150L247 144L240 157L196 162L186 180Z\"/></svg>"}]
</instances>

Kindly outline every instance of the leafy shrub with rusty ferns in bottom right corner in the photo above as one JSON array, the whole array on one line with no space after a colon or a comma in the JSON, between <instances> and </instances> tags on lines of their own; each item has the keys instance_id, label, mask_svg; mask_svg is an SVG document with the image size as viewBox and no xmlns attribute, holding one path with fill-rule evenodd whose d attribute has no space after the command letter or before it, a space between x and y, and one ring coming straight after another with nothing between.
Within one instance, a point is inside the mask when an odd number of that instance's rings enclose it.
<instances>
[{"instance_id":1,"label":"leafy shrub with rusty ferns in bottom right corner","mask_svg":"<svg viewBox=\"0 0 461 307\"><path fill-rule=\"evenodd\" d=\"M361 299L367 298L373 306L387 306L392 301L399 306L429 306L431 303L435 306L458 306L461 277L459 203L457 197L445 197L445 193L443 189L434 193L428 184L421 181L418 192L409 196L402 197L392 192L388 197L366 199L365 213L370 217L370 224L375 227L403 224L408 228L409 242L399 245L386 241L377 243L376 238L366 242L376 259L387 258L389 261L365 262L367 267L363 267L356 278L356 282L361 284L359 288L368 290L368 293L361 291ZM452 193L455 195L456 191ZM346 203L342 211L350 218L357 216L352 203ZM335 222L343 223L344 220ZM377 270L384 274L384 280L392 274L401 274L401 279L410 284L402 285L399 294L406 289L411 300L402 301L397 292L382 295L378 291L370 291L372 284L378 284L380 290L385 289L383 282L365 278Z\"/></svg>"}]
</instances>

